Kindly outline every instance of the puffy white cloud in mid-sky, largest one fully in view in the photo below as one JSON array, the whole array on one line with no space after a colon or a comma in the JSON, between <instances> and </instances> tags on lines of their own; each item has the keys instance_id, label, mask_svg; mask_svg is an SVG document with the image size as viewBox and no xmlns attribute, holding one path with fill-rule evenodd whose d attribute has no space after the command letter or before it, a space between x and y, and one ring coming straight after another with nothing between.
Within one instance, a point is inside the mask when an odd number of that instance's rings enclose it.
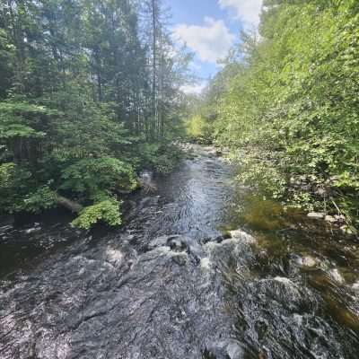
<instances>
[{"instance_id":1,"label":"puffy white cloud in mid-sky, largest one fully in view","mask_svg":"<svg viewBox=\"0 0 359 359\"><path fill-rule=\"evenodd\" d=\"M173 29L175 39L183 41L205 62L215 63L225 57L235 36L222 20L205 18L203 26L180 24Z\"/></svg>"}]
</instances>

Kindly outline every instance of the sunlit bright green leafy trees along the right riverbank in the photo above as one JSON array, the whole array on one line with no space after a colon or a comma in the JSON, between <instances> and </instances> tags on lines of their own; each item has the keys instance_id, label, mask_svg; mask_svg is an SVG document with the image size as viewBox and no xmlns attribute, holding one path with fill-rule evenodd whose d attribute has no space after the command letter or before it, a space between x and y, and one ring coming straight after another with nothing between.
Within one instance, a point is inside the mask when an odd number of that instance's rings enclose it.
<instances>
[{"instance_id":1,"label":"sunlit bright green leafy trees along the right riverbank","mask_svg":"<svg viewBox=\"0 0 359 359\"><path fill-rule=\"evenodd\" d=\"M200 101L201 126L241 181L357 226L358 93L359 2L267 0Z\"/></svg>"}]
</instances>

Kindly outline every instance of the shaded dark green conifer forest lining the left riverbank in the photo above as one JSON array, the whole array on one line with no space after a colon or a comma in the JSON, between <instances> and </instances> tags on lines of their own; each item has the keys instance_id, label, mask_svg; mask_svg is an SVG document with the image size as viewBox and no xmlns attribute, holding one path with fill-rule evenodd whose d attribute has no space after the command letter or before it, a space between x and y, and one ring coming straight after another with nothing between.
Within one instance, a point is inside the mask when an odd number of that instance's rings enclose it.
<instances>
[{"instance_id":1,"label":"shaded dark green conifer forest lining the left riverbank","mask_svg":"<svg viewBox=\"0 0 359 359\"><path fill-rule=\"evenodd\" d=\"M1 2L1 213L118 224L136 171L171 170L190 56L166 22L161 0Z\"/></svg>"}]
</instances>

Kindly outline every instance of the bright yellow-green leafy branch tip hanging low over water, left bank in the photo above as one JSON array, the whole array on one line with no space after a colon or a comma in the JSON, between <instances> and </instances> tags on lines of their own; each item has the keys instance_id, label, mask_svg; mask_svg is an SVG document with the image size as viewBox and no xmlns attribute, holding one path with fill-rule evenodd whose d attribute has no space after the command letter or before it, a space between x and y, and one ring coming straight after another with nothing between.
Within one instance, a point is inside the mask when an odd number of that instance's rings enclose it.
<instances>
[{"instance_id":1,"label":"bright yellow-green leafy branch tip hanging low over water, left bank","mask_svg":"<svg viewBox=\"0 0 359 359\"><path fill-rule=\"evenodd\" d=\"M119 206L120 203L116 199L110 198L93 206L85 207L73 221L73 225L83 230L89 230L93 224L99 222L107 223L110 226L120 225Z\"/></svg>"}]
</instances>

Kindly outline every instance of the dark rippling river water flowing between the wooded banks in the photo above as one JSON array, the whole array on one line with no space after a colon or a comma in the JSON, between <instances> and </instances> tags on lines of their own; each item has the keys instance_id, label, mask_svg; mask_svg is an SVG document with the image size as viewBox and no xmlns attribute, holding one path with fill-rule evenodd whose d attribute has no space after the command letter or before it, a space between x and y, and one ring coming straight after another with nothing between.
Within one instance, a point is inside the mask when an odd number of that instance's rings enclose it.
<instances>
[{"instance_id":1,"label":"dark rippling river water flowing between the wooded banks","mask_svg":"<svg viewBox=\"0 0 359 359\"><path fill-rule=\"evenodd\" d=\"M121 231L4 223L0 358L359 358L359 245L196 153Z\"/></svg>"}]
</instances>

